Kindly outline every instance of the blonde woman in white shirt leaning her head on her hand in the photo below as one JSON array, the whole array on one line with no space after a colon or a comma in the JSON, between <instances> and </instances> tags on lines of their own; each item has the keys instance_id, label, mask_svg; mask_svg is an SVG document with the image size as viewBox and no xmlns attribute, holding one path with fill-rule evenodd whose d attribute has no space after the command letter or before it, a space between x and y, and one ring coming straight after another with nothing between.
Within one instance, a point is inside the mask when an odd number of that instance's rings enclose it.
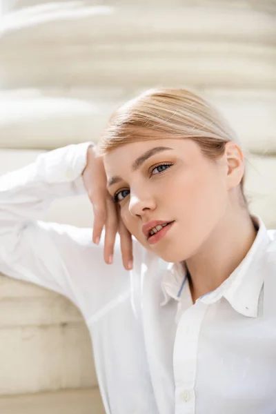
<instances>
[{"instance_id":1,"label":"blonde woman in white shirt leaning her head on her hand","mask_svg":"<svg viewBox=\"0 0 276 414\"><path fill-rule=\"evenodd\" d=\"M235 133L172 88L1 177L0 270L80 308L106 413L276 413L276 231L243 184ZM92 231L39 220L83 192Z\"/></svg>"}]
</instances>

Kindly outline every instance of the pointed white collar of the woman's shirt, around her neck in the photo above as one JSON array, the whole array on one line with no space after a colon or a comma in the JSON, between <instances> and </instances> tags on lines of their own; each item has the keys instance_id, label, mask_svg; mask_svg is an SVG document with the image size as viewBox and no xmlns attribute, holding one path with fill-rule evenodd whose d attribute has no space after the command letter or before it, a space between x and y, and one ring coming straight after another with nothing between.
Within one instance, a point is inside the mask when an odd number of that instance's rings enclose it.
<instances>
[{"instance_id":1,"label":"pointed white collar of the woman's shirt, around her neck","mask_svg":"<svg viewBox=\"0 0 276 414\"><path fill-rule=\"evenodd\" d=\"M270 243L270 238L262 219L257 215L251 215L251 218L259 230L246 257L217 289L197 300L212 304L224 297L235 311L244 316L257 317L259 295L264 284L264 269L261 268L263 253ZM186 283L188 282L185 262L168 264L161 281L164 301L160 305L166 305L171 298L180 301Z\"/></svg>"}]
</instances>

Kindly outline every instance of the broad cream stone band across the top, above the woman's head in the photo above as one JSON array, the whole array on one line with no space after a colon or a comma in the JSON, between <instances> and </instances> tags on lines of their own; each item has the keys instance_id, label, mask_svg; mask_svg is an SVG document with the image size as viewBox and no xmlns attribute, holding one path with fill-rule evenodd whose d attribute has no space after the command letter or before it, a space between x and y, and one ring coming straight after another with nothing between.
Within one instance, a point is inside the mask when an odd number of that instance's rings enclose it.
<instances>
[{"instance_id":1,"label":"broad cream stone band across the top, above the woman's head","mask_svg":"<svg viewBox=\"0 0 276 414\"><path fill-rule=\"evenodd\" d=\"M274 15L48 3L1 21L0 85L276 86ZM248 70L250 68L250 70Z\"/></svg>"}]
</instances>

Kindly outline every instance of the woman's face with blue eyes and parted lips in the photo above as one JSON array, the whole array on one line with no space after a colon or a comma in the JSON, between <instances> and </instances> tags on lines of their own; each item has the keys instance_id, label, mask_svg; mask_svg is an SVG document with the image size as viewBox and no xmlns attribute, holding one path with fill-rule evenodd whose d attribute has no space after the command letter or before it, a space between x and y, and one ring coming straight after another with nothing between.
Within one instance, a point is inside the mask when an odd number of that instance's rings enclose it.
<instances>
[{"instance_id":1,"label":"woman's face with blue eyes and parted lips","mask_svg":"<svg viewBox=\"0 0 276 414\"><path fill-rule=\"evenodd\" d=\"M210 161L190 139L126 144L105 155L103 163L108 181L119 176L108 192L117 195L126 228L166 262L181 262L195 254L225 214L224 157L219 163ZM142 231L151 220L174 221L154 244Z\"/></svg>"}]
</instances>

